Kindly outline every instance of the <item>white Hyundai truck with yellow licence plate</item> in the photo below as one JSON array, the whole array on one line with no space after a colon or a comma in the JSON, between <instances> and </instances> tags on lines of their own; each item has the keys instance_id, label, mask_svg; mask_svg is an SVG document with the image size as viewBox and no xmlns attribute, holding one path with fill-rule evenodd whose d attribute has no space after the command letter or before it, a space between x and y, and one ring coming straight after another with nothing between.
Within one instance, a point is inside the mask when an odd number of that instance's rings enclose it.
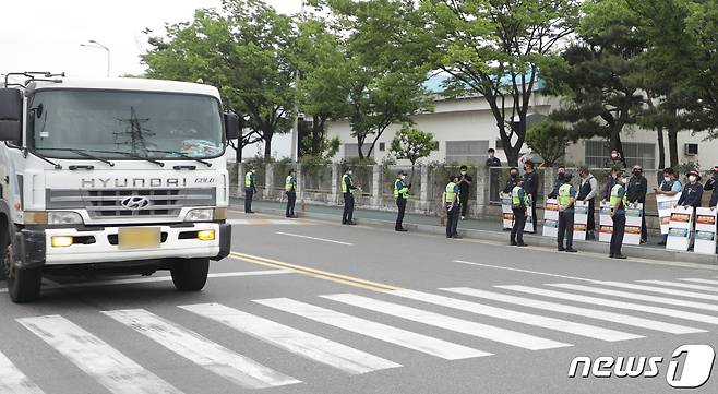
<instances>
[{"instance_id":1,"label":"white Hyundai truck with yellow licence plate","mask_svg":"<svg viewBox=\"0 0 718 394\"><path fill-rule=\"evenodd\" d=\"M20 82L19 82L20 81ZM0 251L15 302L44 274L151 275L201 290L228 255L225 147L203 84L12 73L0 84Z\"/></svg>"}]
</instances>

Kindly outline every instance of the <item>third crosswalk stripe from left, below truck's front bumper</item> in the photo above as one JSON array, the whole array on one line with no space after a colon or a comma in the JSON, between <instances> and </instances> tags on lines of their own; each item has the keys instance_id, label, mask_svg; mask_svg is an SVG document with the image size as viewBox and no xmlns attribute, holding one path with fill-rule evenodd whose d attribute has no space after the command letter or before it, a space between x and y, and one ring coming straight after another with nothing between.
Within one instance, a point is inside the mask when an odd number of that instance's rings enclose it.
<instances>
[{"instance_id":1,"label":"third crosswalk stripe from left, below truck's front bumper","mask_svg":"<svg viewBox=\"0 0 718 394\"><path fill-rule=\"evenodd\" d=\"M239 386L265 389L301 383L144 309L103 313Z\"/></svg>"}]
</instances>

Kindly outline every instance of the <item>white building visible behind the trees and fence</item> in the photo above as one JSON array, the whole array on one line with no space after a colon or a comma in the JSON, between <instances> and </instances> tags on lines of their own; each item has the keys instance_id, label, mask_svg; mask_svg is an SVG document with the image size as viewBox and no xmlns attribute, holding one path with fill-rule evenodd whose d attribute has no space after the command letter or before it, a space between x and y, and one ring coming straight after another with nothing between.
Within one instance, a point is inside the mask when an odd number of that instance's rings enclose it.
<instances>
[{"instance_id":1,"label":"white building visible behind the trees and fence","mask_svg":"<svg viewBox=\"0 0 718 394\"><path fill-rule=\"evenodd\" d=\"M438 83L429 83L434 88ZM532 96L529 112L548 115L552 108L560 105L557 97L547 97L539 93ZM421 114L414 117L416 127L434 134L439 142L436 151L424 163L466 163L483 164L489 147L496 150L496 156L505 165L506 156L501 147L501 139L496 128L496 121L491 114L489 105L483 97L471 97L460 99L439 98L434 103L432 114ZM511 106L511 102L507 103ZM391 142L399 124L390 127L378 140L372 157L376 163L382 163L388 156ZM351 128L348 121L337 121L330 124L330 136L337 135L342 141L339 153L335 160L356 157L357 142L351 136ZM679 163L699 163L703 170L718 165L718 141L706 141L706 133L690 131L678 134ZM369 150L373 136L370 135L364 142L364 153ZM665 132L666 162L669 162L668 135ZM658 142L657 133L639 129L627 128L622 134L623 151L630 166L641 164L646 169L658 166ZM522 153L526 152L524 146ZM694 153L696 152L697 153ZM574 165L588 165L590 167L603 167L610 154L608 142L601 139L579 141L566 147L565 160Z\"/></svg>"}]
</instances>

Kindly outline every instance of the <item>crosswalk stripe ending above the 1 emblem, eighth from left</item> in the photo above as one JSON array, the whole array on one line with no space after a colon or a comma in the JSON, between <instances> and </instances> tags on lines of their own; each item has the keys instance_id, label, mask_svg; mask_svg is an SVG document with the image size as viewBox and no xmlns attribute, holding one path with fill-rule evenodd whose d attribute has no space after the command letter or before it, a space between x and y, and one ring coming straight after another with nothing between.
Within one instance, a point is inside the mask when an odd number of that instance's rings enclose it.
<instances>
[{"instance_id":1,"label":"crosswalk stripe ending above the 1 emblem, eighth from left","mask_svg":"<svg viewBox=\"0 0 718 394\"><path fill-rule=\"evenodd\" d=\"M501 292L486 291L468 287L442 288L441 290L470 297L484 298L493 301L513 303L522 307L537 308L557 313L574 314L584 318L591 318L612 323L631 325L634 327L661 331L671 334L695 334L706 332L706 330L636 318L629 314L607 312L598 309L579 308L557 302L540 301L532 298L510 296Z\"/></svg>"}]
</instances>

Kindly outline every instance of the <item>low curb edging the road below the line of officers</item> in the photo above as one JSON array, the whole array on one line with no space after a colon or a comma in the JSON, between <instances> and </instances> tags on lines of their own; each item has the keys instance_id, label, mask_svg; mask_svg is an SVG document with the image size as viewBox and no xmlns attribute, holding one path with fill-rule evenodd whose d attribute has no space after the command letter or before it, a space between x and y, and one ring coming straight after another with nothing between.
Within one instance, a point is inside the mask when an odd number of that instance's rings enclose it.
<instances>
[{"instance_id":1,"label":"low curb edging the road below the line of officers","mask_svg":"<svg viewBox=\"0 0 718 394\"><path fill-rule=\"evenodd\" d=\"M284 216L285 212L280 208L265 208L256 207L254 211L259 213L270 214L270 215L279 215ZM297 213L299 217L314 218L320 220L336 222L337 215L333 214L321 214L312 212L299 212ZM394 228L394 222L381 220L381 219L368 219L368 218L355 218L355 222L361 225L376 226L383 228ZM404 227L411 231L431 234L431 235L445 235L445 230L440 226L432 225L417 225L417 224L405 224ZM506 242L508 240L507 232L504 231L490 231L490 230L475 230L475 229L460 229L459 235L464 238L469 239L480 239L495 242ZM532 234L525 234L524 239L537 247L545 248L555 248L557 243L553 238L547 238L542 236L537 236ZM609 246L605 242L598 241L574 241L574 246L586 252L593 253L603 253L608 254ZM694 264L706 264L706 265L717 265L718 255L706 255L697 254L693 252L680 252L680 251L669 251L666 249L649 249L636 246L624 244L623 246L624 254L631 258L646 259L646 260L659 260L659 261L669 261L669 262L684 262L684 263L694 263Z\"/></svg>"}]
</instances>

